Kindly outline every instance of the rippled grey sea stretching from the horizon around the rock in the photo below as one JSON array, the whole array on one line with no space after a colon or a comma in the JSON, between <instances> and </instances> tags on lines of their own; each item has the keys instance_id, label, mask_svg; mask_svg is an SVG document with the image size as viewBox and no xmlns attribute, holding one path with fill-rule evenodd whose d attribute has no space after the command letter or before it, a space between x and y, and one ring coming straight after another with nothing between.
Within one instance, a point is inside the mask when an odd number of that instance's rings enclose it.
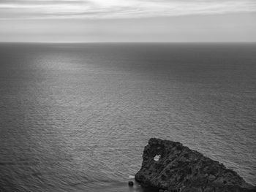
<instances>
[{"instance_id":1,"label":"rippled grey sea stretching from the horizon around the rock","mask_svg":"<svg viewBox=\"0 0 256 192\"><path fill-rule=\"evenodd\" d=\"M151 137L256 184L255 44L0 44L0 191L129 188Z\"/></svg>"}]
</instances>

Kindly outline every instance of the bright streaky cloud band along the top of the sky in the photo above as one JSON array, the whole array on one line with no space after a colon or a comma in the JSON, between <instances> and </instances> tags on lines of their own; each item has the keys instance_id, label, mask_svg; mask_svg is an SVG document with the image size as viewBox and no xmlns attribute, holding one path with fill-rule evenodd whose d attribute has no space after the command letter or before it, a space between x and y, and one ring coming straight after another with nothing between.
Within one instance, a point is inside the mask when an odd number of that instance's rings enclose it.
<instances>
[{"instance_id":1,"label":"bright streaky cloud band along the top of the sky","mask_svg":"<svg viewBox=\"0 0 256 192\"><path fill-rule=\"evenodd\" d=\"M0 19L150 18L256 12L255 0L0 0Z\"/></svg>"}]
</instances>

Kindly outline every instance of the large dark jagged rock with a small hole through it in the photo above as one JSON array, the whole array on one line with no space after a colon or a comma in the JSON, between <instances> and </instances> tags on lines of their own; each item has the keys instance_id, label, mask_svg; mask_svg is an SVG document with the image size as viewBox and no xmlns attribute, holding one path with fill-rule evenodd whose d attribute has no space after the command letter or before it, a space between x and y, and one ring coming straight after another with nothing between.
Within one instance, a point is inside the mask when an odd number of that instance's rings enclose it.
<instances>
[{"instance_id":1,"label":"large dark jagged rock with a small hole through it","mask_svg":"<svg viewBox=\"0 0 256 192\"><path fill-rule=\"evenodd\" d=\"M159 191L256 191L236 172L179 142L149 139L135 180Z\"/></svg>"}]
</instances>

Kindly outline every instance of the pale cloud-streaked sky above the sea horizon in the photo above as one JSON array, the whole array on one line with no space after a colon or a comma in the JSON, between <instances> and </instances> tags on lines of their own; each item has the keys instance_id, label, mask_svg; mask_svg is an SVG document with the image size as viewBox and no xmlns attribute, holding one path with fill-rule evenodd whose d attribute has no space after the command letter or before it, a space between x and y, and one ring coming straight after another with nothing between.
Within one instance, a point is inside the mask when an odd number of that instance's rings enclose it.
<instances>
[{"instance_id":1,"label":"pale cloud-streaked sky above the sea horizon","mask_svg":"<svg viewBox=\"0 0 256 192\"><path fill-rule=\"evenodd\" d=\"M0 0L0 42L255 41L255 0Z\"/></svg>"}]
</instances>

